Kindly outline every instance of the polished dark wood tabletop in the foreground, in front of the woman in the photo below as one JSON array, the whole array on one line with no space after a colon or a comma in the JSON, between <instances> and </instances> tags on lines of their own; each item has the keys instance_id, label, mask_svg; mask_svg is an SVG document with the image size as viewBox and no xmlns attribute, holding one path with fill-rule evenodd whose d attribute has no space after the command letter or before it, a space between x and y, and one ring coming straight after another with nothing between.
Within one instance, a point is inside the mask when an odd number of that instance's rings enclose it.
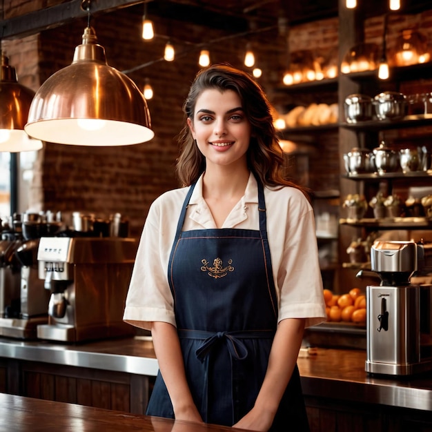
<instances>
[{"instance_id":1,"label":"polished dark wood tabletop in the foreground, in front of the woman","mask_svg":"<svg viewBox=\"0 0 432 432\"><path fill-rule=\"evenodd\" d=\"M224 432L242 431L0 393L1 431Z\"/></svg>"}]
</instances>

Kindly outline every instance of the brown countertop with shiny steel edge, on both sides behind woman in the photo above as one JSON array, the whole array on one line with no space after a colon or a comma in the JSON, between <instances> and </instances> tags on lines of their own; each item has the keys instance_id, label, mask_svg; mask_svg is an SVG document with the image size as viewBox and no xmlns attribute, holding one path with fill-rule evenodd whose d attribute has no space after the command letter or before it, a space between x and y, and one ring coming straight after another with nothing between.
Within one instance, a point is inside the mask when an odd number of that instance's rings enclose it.
<instances>
[{"instance_id":1,"label":"brown countertop with shiny steel edge, on both sides behind woman","mask_svg":"<svg viewBox=\"0 0 432 432\"><path fill-rule=\"evenodd\" d=\"M432 371L413 376L370 375L366 351L316 348L297 360L305 395L432 411ZM155 376L153 343L128 337L81 344L23 342L0 337L0 357Z\"/></svg>"}]
</instances>

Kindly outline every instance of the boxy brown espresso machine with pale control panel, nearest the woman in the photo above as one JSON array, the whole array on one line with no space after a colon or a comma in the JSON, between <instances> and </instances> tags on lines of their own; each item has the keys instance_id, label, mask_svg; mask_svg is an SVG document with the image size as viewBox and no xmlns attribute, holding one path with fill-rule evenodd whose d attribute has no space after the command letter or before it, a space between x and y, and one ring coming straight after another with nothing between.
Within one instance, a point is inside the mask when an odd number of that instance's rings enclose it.
<instances>
[{"instance_id":1,"label":"boxy brown espresso machine with pale control panel, nearest the woman","mask_svg":"<svg viewBox=\"0 0 432 432\"><path fill-rule=\"evenodd\" d=\"M127 237L41 237L39 278L48 293L43 340L81 342L132 335L124 304L137 252Z\"/></svg>"}]
</instances>

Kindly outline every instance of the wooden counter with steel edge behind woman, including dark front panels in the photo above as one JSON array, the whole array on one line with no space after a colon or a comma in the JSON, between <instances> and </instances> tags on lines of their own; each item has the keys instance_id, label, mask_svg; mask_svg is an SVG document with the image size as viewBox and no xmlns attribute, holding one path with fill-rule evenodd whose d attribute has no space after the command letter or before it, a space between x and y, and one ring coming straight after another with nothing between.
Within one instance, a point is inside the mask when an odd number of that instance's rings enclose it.
<instances>
[{"instance_id":1,"label":"wooden counter with steel edge behind woman, including dark front panels","mask_svg":"<svg viewBox=\"0 0 432 432\"><path fill-rule=\"evenodd\" d=\"M432 432L432 372L374 376L366 351L317 348L299 357L313 432ZM142 414L157 373L151 340L86 344L0 338L0 391Z\"/></svg>"}]
</instances>

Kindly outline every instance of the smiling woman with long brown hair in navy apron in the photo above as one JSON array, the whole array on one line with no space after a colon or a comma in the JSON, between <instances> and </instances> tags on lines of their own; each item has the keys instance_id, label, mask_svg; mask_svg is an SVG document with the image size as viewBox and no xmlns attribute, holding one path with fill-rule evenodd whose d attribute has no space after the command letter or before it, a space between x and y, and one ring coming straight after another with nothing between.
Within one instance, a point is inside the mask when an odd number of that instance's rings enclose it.
<instances>
[{"instance_id":1,"label":"smiling woman with long brown hair in navy apron","mask_svg":"<svg viewBox=\"0 0 432 432\"><path fill-rule=\"evenodd\" d=\"M281 175L271 107L215 65L184 104L177 174L150 208L124 320L149 328L159 375L149 415L307 431L296 360L325 306L313 209Z\"/></svg>"}]
</instances>

